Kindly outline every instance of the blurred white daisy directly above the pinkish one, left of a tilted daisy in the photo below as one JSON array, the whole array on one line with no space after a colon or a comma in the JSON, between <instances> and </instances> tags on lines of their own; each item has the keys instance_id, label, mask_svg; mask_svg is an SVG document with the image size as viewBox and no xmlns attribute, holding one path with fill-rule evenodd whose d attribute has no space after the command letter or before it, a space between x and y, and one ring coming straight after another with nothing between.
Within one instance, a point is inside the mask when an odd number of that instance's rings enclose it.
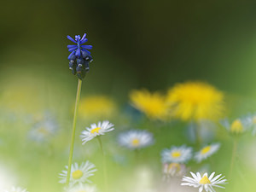
<instances>
[{"instance_id":1,"label":"blurred white daisy directly above the pinkish one, left of a tilted daisy","mask_svg":"<svg viewBox=\"0 0 256 192\"><path fill-rule=\"evenodd\" d=\"M192 148L185 145L168 149L165 148L161 152L163 163L186 163L192 157Z\"/></svg>"}]
</instances>

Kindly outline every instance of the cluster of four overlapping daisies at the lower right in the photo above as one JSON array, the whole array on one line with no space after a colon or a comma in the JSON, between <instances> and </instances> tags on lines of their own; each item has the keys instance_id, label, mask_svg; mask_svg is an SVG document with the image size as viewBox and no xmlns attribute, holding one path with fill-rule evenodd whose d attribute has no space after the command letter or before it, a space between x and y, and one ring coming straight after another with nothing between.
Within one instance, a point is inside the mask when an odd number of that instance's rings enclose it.
<instances>
[{"instance_id":1,"label":"cluster of four overlapping daisies at the lower right","mask_svg":"<svg viewBox=\"0 0 256 192\"><path fill-rule=\"evenodd\" d=\"M210 145L201 148L200 151L193 154L193 148L186 147L185 145L172 148L165 148L161 152L162 162L164 165L163 173L166 178L168 177L182 177L183 183L181 185L192 186L199 188L199 192L205 189L207 192L215 192L213 187L224 188L221 184L226 183L226 179L221 177L221 174L214 177L215 172L208 177L207 172L202 176L200 172L190 172L192 177L184 176L188 171L185 164L189 162L192 158L200 163L202 160L207 159L212 154L215 154L218 151L220 144L212 143Z\"/></svg>"}]
</instances>

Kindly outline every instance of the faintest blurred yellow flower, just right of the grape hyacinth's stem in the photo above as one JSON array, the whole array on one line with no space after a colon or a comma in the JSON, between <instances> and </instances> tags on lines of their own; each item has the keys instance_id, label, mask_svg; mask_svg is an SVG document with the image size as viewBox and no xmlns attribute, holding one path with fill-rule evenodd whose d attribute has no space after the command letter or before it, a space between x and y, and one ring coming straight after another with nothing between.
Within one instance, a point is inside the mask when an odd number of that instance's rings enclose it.
<instances>
[{"instance_id":1,"label":"faintest blurred yellow flower, just right of the grape hyacinth's stem","mask_svg":"<svg viewBox=\"0 0 256 192\"><path fill-rule=\"evenodd\" d=\"M108 96L86 96L79 103L79 117L108 119L117 112L117 106Z\"/></svg>"}]
</instances>

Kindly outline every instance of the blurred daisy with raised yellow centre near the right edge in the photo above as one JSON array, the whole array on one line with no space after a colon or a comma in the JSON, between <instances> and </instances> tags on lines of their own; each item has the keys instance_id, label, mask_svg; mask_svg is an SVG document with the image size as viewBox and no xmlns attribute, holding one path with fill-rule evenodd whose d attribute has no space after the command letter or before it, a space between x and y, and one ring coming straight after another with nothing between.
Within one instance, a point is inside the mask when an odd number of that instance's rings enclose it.
<instances>
[{"instance_id":1,"label":"blurred daisy with raised yellow centre near the right edge","mask_svg":"<svg viewBox=\"0 0 256 192\"><path fill-rule=\"evenodd\" d=\"M223 125L232 135L240 135L247 130L250 125L250 121L251 120L247 118L238 118L232 122L229 122L228 119L224 119L220 121L220 124Z\"/></svg>"}]
</instances>

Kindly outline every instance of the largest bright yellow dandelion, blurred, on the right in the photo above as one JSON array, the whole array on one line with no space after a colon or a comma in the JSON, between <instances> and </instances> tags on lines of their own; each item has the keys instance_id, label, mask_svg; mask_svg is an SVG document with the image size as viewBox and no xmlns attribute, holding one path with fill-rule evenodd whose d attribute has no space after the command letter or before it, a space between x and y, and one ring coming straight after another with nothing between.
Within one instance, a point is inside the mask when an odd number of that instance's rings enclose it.
<instances>
[{"instance_id":1,"label":"largest bright yellow dandelion, blurred, on the right","mask_svg":"<svg viewBox=\"0 0 256 192\"><path fill-rule=\"evenodd\" d=\"M224 112L224 94L202 82L176 84L168 91L172 115L183 120L218 119Z\"/></svg>"}]
</instances>

